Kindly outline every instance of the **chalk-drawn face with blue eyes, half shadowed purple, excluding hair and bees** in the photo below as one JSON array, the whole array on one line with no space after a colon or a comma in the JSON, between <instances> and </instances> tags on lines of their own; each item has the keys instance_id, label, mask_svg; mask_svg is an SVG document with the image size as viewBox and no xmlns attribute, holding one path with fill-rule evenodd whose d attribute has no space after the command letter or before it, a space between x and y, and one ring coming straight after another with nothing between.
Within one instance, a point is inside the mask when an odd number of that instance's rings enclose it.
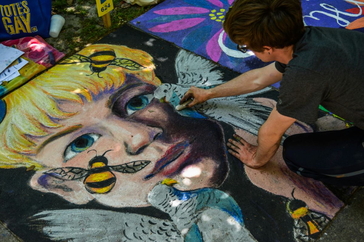
<instances>
[{"instance_id":1,"label":"chalk-drawn face with blue eyes, half shadowed purple, excluding hair and bees","mask_svg":"<svg viewBox=\"0 0 364 242\"><path fill-rule=\"evenodd\" d=\"M177 180L181 190L219 186L228 172L220 124L179 115L154 98L155 88L129 76L119 90L84 106L60 102L61 110L77 114L62 120L64 127L55 135L37 141L35 159L46 168L36 172L31 186L73 203L96 199L112 207L147 206L149 191L165 178ZM104 155L108 166L150 163L130 174L114 171L115 186L106 194L89 193L83 179L62 181L43 174L59 167L87 169L96 155L90 150L97 155L111 150Z\"/></svg>"}]
</instances>

